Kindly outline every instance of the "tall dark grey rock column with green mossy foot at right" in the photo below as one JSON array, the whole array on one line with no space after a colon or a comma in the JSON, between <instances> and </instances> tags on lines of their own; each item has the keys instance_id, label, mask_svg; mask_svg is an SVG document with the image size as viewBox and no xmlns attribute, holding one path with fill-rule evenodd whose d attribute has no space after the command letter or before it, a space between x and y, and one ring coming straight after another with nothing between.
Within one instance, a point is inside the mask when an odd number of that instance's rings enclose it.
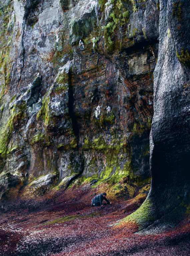
<instances>
[{"instance_id":1,"label":"tall dark grey rock column with green mossy foot at right","mask_svg":"<svg viewBox=\"0 0 190 256\"><path fill-rule=\"evenodd\" d=\"M143 233L174 227L190 203L190 2L160 1L160 43L154 71L150 133L151 190L127 220Z\"/></svg>"}]
</instances>

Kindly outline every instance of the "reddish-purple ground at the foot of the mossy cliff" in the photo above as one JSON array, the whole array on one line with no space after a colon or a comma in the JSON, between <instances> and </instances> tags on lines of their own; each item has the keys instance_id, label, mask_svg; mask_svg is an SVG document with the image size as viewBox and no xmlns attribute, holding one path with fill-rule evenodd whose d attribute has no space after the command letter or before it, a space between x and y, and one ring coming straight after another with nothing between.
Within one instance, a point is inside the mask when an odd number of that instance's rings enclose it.
<instances>
[{"instance_id":1,"label":"reddish-purple ground at the foot of the mossy cliff","mask_svg":"<svg viewBox=\"0 0 190 256\"><path fill-rule=\"evenodd\" d=\"M15 256L180 256L190 255L190 218L160 235L136 234L119 220L136 210L146 195L90 207L96 191L88 186L3 206L0 255Z\"/></svg>"}]
</instances>

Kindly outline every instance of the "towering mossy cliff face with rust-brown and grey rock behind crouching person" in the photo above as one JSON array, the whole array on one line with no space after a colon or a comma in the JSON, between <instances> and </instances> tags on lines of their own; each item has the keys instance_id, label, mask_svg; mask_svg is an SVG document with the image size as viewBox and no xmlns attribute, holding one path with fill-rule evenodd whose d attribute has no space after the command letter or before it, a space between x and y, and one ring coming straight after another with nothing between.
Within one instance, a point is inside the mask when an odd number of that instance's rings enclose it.
<instances>
[{"instance_id":1,"label":"towering mossy cliff face with rust-brown and grey rock behind crouching person","mask_svg":"<svg viewBox=\"0 0 190 256\"><path fill-rule=\"evenodd\" d=\"M159 2L0 7L0 195L31 182L64 187L79 176L150 177Z\"/></svg>"}]
</instances>

